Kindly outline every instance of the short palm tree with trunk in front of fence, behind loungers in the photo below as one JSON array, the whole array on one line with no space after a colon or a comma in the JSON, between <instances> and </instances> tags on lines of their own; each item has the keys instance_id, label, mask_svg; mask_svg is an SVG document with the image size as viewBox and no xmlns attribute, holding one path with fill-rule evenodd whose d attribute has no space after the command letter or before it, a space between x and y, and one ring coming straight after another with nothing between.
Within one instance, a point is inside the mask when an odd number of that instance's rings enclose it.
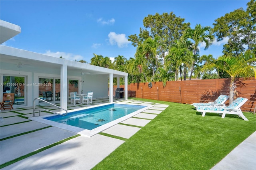
<instances>
[{"instance_id":1,"label":"short palm tree with trunk in front of fence, behind loungers","mask_svg":"<svg viewBox=\"0 0 256 170\"><path fill-rule=\"evenodd\" d=\"M247 50L241 53L238 57L232 57L231 55L220 56L215 62L209 62L204 65L204 70L211 70L213 68L225 71L230 75L229 86L229 103L234 100L234 81L238 76L256 78L256 58L255 53Z\"/></svg>"}]
</instances>

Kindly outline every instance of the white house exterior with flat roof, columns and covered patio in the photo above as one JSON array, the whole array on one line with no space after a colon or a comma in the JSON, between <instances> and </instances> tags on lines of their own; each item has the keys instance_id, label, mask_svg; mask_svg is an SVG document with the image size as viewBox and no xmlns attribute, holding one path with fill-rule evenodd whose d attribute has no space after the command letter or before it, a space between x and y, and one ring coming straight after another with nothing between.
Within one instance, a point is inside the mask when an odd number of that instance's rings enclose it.
<instances>
[{"instance_id":1,"label":"white house exterior with flat roof, columns and covered patio","mask_svg":"<svg viewBox=\"0 0 256 170\"><path fill-rule=\"evenodd\" d=\"M1 44L21 32L20 26L3 20L0 20L0 26ZM68 94L72 92L68 88L70 80L78 82L76 84L79 93L93 91L93 98L109 97L111 103L114 92L113 79L118 77L119 84L119 78L124 77L124 99L128 96L128 73L0 45L0 100L3 93L6 93L4 77L10 79L9 85L16 85L13 77L24 79L24 89L22 89L24 102L14 107L33 106L34 99L39 97L39 85L42 85L40 84L42 79L53 80L51 84L53 96L56 95L55 83L57 81L60 83L60 101L58 102L63 109L67 109ZM10 90L13 93L14 88ZM51 102L56 102L55 97Z\"/></svg>"}]
</instances>

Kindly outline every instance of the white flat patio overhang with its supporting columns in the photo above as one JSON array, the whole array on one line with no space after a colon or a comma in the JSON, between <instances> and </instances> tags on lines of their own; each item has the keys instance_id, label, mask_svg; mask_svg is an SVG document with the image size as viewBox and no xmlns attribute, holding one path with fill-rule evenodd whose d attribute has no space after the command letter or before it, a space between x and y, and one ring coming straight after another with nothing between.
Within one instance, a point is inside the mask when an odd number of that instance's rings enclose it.
<instances>
[{"instance_id":1,"label":"white flat patio overhang with its supporting columns","mask_svg":"<svg viewBox=\"0 0 256 170\"><path fill-rule=\"evenodd\" d=\"M30 84L38 83L38 78L40 77L55 77L60 79L60 98L62 99L60 105L64 109L66 109L69 93L67 81L72 78L85 83L84 88L79 84L79 92L81 92L82 89L84 89L84 91L93 90L96 92L101 89L101 91L98 91L98 96L97 93L95 93L95 97L107 97L108 90L109 94L113 94L114 92L113 78L118 77L118 82L120 82L119 77L124 77L126 84L124 99L128 97L128 73L4 45L0 45L0 48L1 82L3 82L4 75L25 76L27 77L27 82ZM86 89L86 87L88 88ZM32 101L38 97L39 91L38 88L36 88L37 87L27 87L28 106L33 105ZM0 89L0 92L1 98L3 89ZM100 96L100 94L102 94L102 96ZM109 101L113 102L113 95L109 95Z\"/></svg>"}]
</instances>

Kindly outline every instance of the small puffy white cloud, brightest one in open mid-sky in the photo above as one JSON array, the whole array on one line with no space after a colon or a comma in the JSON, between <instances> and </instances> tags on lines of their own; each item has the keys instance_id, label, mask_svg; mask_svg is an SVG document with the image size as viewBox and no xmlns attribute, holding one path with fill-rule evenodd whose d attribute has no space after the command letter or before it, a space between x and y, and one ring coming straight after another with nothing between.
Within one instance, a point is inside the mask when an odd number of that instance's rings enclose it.
<instances>
[{"instance_id":1,"label":"small puffy white cloud, brightest one in open mid-sky","mask_svg":"<svg viewBox=\"0 0 256 170\"><path fill-rule=\"evenodd\" d=\"M116 34L115 32L110 32L108 34L108 38L111 45L117 44L119 48L127 47L127 44L130 43L125 34Z\"/></svg>"}]
</instances>

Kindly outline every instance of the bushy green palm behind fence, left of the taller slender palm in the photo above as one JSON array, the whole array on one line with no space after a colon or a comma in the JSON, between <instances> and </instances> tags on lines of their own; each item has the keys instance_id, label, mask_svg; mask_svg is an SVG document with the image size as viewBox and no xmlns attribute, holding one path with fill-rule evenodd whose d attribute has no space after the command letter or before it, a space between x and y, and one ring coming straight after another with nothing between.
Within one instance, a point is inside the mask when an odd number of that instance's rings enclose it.
<instances>
[{"instance_id":1,"label":"bushy green palm behind fence, left of the taller slender palm","mask_svg":"<svg viewBox=\"0 0 256 170\"><path fill-rule=\"evenodd\" d=\"M192 52L188 49L187 43L181 40L175 40L174 44L165 57L164 64L175 67L175 81L177 80L178 70L180 69L180 79L182 80L182 65L190 65L192 62ZM184 75L186 76L186 75Z\"/></svg>"}]
</instances>

